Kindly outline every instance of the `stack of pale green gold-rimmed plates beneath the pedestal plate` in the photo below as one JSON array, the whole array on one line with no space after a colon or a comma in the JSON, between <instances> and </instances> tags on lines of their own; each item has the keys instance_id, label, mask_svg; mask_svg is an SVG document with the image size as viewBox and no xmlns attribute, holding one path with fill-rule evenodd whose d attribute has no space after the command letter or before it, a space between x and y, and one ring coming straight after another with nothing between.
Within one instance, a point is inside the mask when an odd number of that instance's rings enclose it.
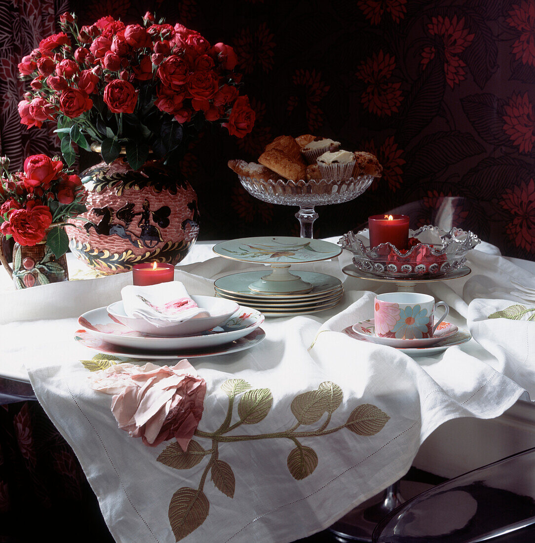
<instances>
[{"instance_id":1,"label":"stack of pale green gold-rimmed plates beneath the pedestal plate","mask_svg":"<svg viewBox=\"0 0 535 543\"><path fill-rule=\"evenodd\" d=\"M256 294L249 290L249 285L267 275L266 271L246 271L220 277L214 283L216 296L234 300L238 304L254 307L267 317L284 317L317 313L335 307L339 304L344 293L342 282L332 275L313 271L294 271L311 283L313 288L305 294Z\"/></svg>"}]
</instances>

